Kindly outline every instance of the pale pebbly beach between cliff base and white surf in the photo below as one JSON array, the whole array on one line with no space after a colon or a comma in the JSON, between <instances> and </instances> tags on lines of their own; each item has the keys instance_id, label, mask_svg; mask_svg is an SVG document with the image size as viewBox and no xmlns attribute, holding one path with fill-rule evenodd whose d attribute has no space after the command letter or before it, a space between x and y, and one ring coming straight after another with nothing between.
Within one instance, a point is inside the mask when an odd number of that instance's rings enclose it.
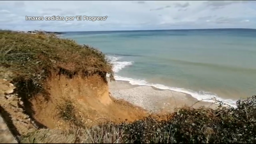
<instances>
[{"instance_id":1,"label":"pale pebbly beach between cliff base and white surf","mask_svg":"<svg viewBox=\"0 0 256 144\"><path fill-rule=\"evenodd\" d=\"M197 99L187 93L160 90L153 86L132 85L128 81L110 82L108 79L108 82L112 97L124 99L152 113L172 113L175 108L181 108L182 106L192 106L193 108L205 106L213 109L218 106L211 102L198 102Z\"/></svg>"}]
</instances>

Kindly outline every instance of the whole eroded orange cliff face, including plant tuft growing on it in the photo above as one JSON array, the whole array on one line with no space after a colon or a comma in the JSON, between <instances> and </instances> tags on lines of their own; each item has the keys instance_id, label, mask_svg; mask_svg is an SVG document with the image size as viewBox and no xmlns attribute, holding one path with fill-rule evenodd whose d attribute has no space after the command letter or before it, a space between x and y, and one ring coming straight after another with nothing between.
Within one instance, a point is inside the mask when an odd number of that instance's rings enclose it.
<instances>
[{"instance_id":1,"label":"whole eroded orange cliff face, including plant tuft growing on it","mask_svg":"<svg viewBox=\"0 0 256 144\"><path fill-rule=\"evenodd\" d=\"M20 108L24 109L37 128L70 129L104 121L132 122L147 115L144 109L124 100L113 99L106 77L99 74L72 78L53 74L46 79L44 87L44 93L36 94L32 88L26 88L26 92L19 88L15 90L17 97L22 100ZM33 97L28 98L28 95Z\"/></svg>"}]
</instances>

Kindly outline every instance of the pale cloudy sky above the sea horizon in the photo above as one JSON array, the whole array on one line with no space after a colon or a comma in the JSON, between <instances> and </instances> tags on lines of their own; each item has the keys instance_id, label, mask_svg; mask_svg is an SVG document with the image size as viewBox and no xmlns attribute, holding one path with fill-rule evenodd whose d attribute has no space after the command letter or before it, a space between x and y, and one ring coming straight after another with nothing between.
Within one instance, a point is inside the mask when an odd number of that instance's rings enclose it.
<instances>
[{"instance_id":1,"label":"pale cloudy sky above the sea horizon","mask_svg":"<svg viewBox=\"0 0 256 144\"><path fill-rule=\"evenodd\" d=\"M106 20L25 19L53 15ZM0 29L21 31L256 29L256 1L0 1L0 16Z\"/></svg>"}]
</instances>

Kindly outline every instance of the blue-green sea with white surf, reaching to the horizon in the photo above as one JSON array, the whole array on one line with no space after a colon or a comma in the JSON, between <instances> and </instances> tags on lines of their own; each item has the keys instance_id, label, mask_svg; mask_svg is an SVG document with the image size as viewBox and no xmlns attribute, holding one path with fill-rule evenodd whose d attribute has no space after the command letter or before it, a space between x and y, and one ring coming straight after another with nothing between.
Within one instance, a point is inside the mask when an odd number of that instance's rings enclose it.
<instances>
[{"instance_id":1,"label":"blue-green sea with white surf, reaching to the horizon","mask_svg":"<svg viewBox=\"0 0 256 144\"><path fill-rule=\"evenodd\" d=\"M65 32L104 52L115 79L235 103L256 94L256 29Z\"/></svg>"}]
</instances>

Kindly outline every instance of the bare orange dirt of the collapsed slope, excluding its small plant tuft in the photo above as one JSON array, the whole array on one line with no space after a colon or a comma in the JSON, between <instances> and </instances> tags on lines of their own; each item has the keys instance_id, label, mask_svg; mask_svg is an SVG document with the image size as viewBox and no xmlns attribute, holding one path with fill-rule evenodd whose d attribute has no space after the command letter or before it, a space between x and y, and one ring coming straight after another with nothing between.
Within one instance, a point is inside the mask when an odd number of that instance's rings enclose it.
<instances>
[{"instance_id":1,"label":"bare orange dirt of the collapsed slope, excluding its small plant tuft","mask_svg":"<svg viewBox=\"0 0 256 144\"><path fill-rule=\"evenodd\" d=\"M65 76L53 76L47 80L50 99L43 95L36 95L31 101L34 118L50 129L69 126L58 115L60 104L65 99L71 100L75 108L74 113L86 125L97 124L104 120L113 122L132 122L147 115L147 111L133 106L123 100L109 97L108 84L102 77L94 75L83 78L80 76L68 79Z\"/></svg>"}]
</instances>

